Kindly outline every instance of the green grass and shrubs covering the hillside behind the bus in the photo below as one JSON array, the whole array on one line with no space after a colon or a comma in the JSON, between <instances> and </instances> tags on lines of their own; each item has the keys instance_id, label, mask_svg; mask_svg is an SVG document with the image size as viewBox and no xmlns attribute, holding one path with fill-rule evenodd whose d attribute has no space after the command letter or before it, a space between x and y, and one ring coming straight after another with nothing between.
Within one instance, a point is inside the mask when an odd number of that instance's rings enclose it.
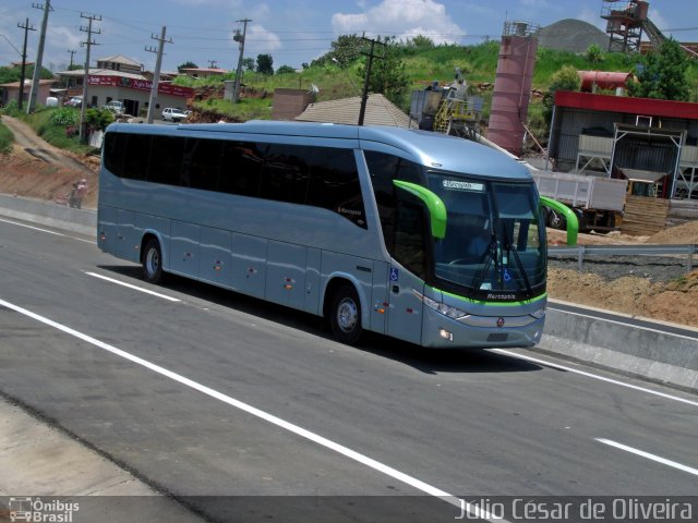
<instances>
[{"instance_id":1,"label":"green grass and shrubs covering the hillside behind the bus","mask_svg":"<svg viewBox=\"0 0 698 523\"><path fill-rule=\"evenodd\" d=\"M535 68L533 71L533 90L544 94L551 85L552 76L564 66L573 66L576 70L622 71L633 72L639 62L637 54L606 53L601 49L594 52L576 54L569 51L556 51L539 48ZM488 41L476 46L414 46L398 45L394 52L404 63L404 73L407 77L408 88L406 95L396 100L406 112L409 109L410 93L423 89L433 81L442 85L454 80L454 73L458 68L471 90L482 96L485 100L484 118L489 115L489 107L494 85L500 42ZM244 121L250 118L268 118L270 114L272 95L278 87L318 89L317 101L333 100L349 96L359 96L363 87L364 58L359 54L353 60L336 62L332 60L330 51L324 57L314 60L312 64L298 72L284 72L281 74L261 74L245 71L243 82L246 85L246 94L240 104L232 104L217 99L206 99L194 104L194 109L215 110L225 118ZM282 71L290 68L281 66ZM690 88L691 101L698 101L698 61L690 62L687 71L687 80ZM227 76L192 81L191 78L178 78L178 83L191 87L220 86L224 80L233 80L234 73ZM533 97L530 106L530 117L535 120L541 118L540 97ZM533 122L535 123L535 122ZM540 125L533 125L540 126Z\"/></svg>"}]
</instances>

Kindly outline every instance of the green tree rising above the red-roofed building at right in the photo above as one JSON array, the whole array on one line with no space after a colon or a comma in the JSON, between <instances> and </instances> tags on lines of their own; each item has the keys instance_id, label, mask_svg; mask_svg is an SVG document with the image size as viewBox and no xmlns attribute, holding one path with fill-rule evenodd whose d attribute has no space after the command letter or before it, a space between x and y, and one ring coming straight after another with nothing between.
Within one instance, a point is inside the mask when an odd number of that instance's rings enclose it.
<instances>
[{"instance_id":1,"label":"green tree rising above the red-roofed building at right","mask_svg":"<svg viewBox=\"0 0 698 523\"><path fill-rule=\"evenodd\" d=\"M659 50L642 57L638 82L630 82L628 94L641 98L688 101L690 87L686 73L688 57L676 40L669 38Z\"/></svg>"}]
</instances>

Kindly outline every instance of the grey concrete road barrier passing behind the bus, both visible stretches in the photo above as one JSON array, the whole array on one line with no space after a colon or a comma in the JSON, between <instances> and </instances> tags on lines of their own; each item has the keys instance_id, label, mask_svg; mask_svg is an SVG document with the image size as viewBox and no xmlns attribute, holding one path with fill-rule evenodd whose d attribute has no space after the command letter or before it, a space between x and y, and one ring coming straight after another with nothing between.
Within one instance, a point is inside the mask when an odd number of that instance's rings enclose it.
<instances>
[{"instance_id":1,"label":"grey concrete road barrier passing behind the bus, both visible stretches","mask_svg":"<svg viewBox=\"0 0 698 523\"><path fill-rule=\"evenodd\" d=\"M91 236L97 231L95 210L52 202L0 195L0 215ZM698 340L684 336L549 308L535 350L698 392Z\"/></svg>"}]
</instances>

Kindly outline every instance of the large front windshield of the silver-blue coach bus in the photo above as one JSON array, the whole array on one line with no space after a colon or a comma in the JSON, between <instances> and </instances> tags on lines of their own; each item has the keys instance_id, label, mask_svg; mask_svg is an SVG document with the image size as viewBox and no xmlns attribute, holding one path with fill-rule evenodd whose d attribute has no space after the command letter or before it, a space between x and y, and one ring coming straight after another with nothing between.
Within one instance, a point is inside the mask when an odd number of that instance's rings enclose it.
<instances>
[{"instance_id":1,"label":"large front windshield of the silver-blue coach bus","mask_svg":"<svg viewBox=\"0 0 698 523\"><path fill-rule=\"evenodd\" d=\"M447 210L434 244L434 276L446 289L480 300L515 301L545 285L545 228L535 186L428 173Z\"/></svg>"}]
</instances>

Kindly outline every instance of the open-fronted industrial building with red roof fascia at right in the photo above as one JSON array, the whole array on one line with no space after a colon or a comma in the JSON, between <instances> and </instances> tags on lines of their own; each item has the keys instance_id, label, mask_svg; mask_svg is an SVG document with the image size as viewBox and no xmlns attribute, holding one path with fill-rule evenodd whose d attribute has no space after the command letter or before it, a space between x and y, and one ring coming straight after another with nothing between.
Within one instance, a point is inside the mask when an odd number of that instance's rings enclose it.
<instances>
[{"instance_id":1,"label":"open-fronted industrial building with red roof fascia at right","mask_svg":"<svg viewBox=\"0 0 698 523\"><path fill-rule=\"evenodd\" d=\"M698 104L558 90L549 157L558 171L641 172L659 196L698 200Z\"/></svg>"}]
</instances>

